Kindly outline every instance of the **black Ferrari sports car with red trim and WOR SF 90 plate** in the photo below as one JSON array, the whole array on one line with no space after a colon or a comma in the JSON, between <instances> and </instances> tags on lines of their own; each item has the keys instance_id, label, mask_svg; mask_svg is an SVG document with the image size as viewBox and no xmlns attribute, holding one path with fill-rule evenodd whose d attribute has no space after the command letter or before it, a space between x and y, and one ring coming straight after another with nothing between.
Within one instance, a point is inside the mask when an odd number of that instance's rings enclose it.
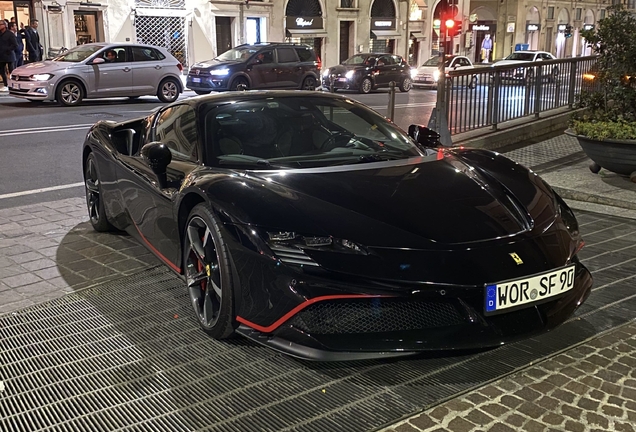
<instances>
[{"instance_id":1,"label":"black Ferrari sports car with red trim and WOR SF 90 plate","mask_svg":"<svg viewBox=\"0 0 636 432\"><path fill-rule=\"evenodd\" d=\"M214 338L317 360L494 347L591 290L574 214L539 176L343 96L186 99L96 123L82 160L93 227L183 275Z\"/></svg>"}]
</instances>

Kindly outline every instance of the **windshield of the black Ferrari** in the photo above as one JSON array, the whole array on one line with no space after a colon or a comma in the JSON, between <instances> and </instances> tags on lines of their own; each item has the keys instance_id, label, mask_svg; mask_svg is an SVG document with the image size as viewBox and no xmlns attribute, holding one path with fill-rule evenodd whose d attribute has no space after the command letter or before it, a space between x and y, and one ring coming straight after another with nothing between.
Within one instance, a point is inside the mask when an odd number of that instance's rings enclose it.
<instances>
[{"instance_id":1,"label":"windshield of the black Ferrari","mask_svg":"<svg viewBox=\"0 0 636 432\"><path fill-rule=\"evenodd\" d=\"M205 115L210 165L299 168L422 156L401 129L346 99L251 99Z\"/></svg>"}]
</instances>

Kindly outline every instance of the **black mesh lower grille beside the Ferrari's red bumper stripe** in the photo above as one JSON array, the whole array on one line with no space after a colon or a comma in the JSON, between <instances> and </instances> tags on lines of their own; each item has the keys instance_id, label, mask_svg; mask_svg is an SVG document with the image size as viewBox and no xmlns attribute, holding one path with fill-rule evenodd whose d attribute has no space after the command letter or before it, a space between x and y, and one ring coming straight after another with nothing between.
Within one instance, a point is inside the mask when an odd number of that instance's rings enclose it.
<instances>
[{"instance_id":1,"label":"black mesh lower grille beside the Ferrari's red bumper stripe","mask_svg":"<svg viewBox=\"0 0 636 432\"><path fill-rule=\"evenodd\" d=\"M422 330L464 322L450 303L364 298L315 303L288 324L312 334L339 334Z\"/></svg>"}]
</instances>

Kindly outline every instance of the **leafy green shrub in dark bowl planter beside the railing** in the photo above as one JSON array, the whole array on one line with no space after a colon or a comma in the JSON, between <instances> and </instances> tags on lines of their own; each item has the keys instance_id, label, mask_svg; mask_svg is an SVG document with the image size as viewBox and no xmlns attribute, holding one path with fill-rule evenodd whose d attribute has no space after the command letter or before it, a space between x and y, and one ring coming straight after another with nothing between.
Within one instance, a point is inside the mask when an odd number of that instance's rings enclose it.
<instances>
[{"instance_id":1,"label":"leafy green shrub in dark bowl planter beside the railing","mask_svg":"<svg viewBox=\"0 0 636 432\"><path fill-rule=\"evenodd\" d=\"M636 16L622 4L607 10L596 28L581 32L598 59L582 71L593 84L565 133L578 139L593 172L605 168L636 182Z\"/></svg>"}]
</instances>

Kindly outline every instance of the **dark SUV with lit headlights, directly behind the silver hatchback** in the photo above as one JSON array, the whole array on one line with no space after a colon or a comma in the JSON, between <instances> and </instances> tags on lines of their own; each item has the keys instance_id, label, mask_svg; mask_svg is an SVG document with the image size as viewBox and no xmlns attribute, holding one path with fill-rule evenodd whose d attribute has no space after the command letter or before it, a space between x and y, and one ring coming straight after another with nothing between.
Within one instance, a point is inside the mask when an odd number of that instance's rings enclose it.
<instances>
[{"instance_id":1,"label":"dark SUV with lit headlights, directly behind the silver hatchback","mask_svg":"<svg viewBox=\"0 0 636 432\"><path fill-rule=\"evenodd\" d=\"M190 68L186 87L199 95L240 89L314 90L320 60L307 45L241 45Z\"/></svg>"}]
</instances>

